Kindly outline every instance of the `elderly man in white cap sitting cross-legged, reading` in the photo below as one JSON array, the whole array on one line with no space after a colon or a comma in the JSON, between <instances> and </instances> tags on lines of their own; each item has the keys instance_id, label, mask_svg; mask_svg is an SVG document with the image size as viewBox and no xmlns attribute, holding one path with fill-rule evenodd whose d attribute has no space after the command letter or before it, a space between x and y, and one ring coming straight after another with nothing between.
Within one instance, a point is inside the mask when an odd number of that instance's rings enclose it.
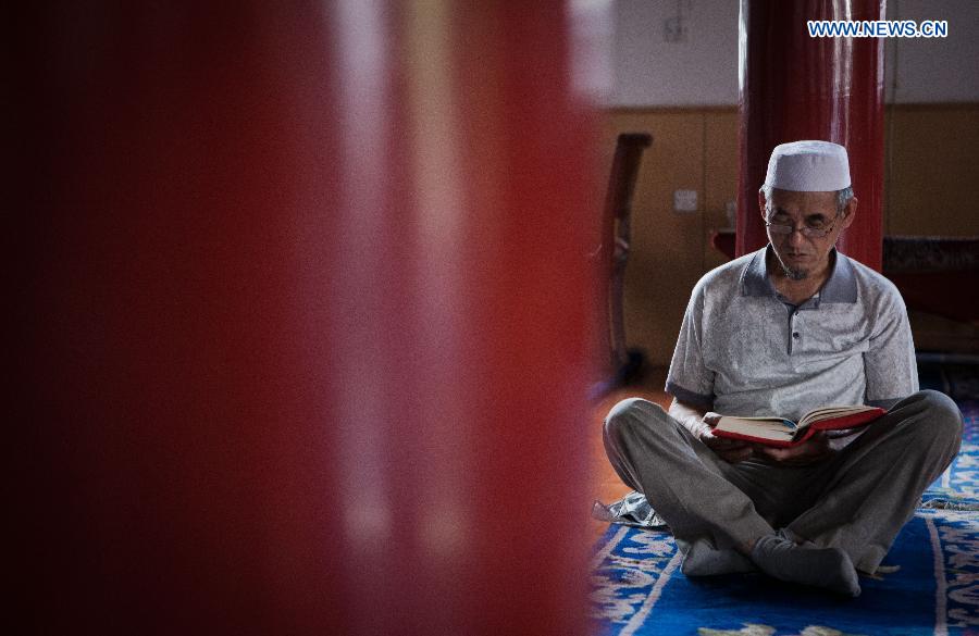
<instances>
[{"instance_id":1,"label":"elderly man in white cap sitting cross-legged, reading","mask_svg":"<svg viewBox=\"0 0 979 636\"><path fill-rule=\"evenodd\" d=\"M857 209L846 150L777 147L758 203L768 246L693 289L667 376L669 413L618 403L606 451L669 524L687 575L760 570L857 596L857 572L873 574L958 451L962 415L918 390L897 289L834 248ZM718 413L797 420L864 403L889 410L792 448L712 434Z\"/></svg>"}]
</instances>

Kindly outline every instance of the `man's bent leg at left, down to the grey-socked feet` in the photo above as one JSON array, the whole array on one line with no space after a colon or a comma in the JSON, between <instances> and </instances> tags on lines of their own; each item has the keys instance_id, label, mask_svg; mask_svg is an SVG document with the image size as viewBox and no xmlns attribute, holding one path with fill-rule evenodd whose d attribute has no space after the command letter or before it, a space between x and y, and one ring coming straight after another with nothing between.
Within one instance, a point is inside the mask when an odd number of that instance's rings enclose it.
<instances>
[{"instance_id":1,"label":"man's bent leg at left, down to the grey-socked feet","mask_svg":"<svg viewBox=\"0 0 979 636\"><path fill-rule=\"evenodd\" d=\"M643 492L670 525L684 553L684 573L743 572L754 563L777 578L859 594L846 552L800 548L776 535L756 510L749 492L764 499L767 488L785 486L778 475L789 472L749 462L729 464L657 404L640 399L611 410L605 446L622 481ZM794 484L788 486L794 489Z\"/></svg>"}]
</instances>

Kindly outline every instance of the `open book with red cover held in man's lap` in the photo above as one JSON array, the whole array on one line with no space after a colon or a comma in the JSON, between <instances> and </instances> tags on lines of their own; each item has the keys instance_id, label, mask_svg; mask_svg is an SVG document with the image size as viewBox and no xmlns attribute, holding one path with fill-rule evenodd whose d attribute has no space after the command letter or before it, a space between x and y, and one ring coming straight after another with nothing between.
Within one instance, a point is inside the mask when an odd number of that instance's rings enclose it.
<instances>
[{"instance_id":1,"label":"open book with red cover held in man's lap","mask_svg":"<svg viewBox=\"0 0 979 636\"><path fill-rule=\"evenodd\" d=\"M809 411L798 422L784 417L735 417L722 415L714 427L718 437L745 439L767 446L794 446L816 431L856 428L887 413L877 407L826 407Z\"/></svg>"}]
</instances>

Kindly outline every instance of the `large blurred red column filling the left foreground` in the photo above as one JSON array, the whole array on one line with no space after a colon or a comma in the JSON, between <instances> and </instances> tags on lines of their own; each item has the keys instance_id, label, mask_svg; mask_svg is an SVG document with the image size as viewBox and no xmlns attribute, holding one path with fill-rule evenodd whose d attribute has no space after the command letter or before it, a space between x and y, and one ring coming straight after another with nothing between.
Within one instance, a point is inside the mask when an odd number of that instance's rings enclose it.
<instances>
[{"instance_id":1,"label":"large blurred red column filling the left foreground","mask_svg":"<svg viewBox=\"0 0 979 636\"><path fill-rule=\"evenodd\" d=\"M34 632L586 632L592 122L504 4L22 10Z\"/></svg>"}]
</instances>

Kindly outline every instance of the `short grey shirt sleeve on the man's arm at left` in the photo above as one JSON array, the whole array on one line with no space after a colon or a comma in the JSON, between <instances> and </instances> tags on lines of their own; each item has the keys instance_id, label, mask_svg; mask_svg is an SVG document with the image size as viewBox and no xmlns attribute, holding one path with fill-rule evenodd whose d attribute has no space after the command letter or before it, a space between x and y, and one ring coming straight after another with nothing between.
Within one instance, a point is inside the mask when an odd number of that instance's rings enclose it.
<instances>
[{"instance_id":1,"label":"short grey shirt sleeve on the man's arm at left","mask_svg":"<svg viewBox=\"0 0 979 636\"><path fill-rule=\"evenodd\" d=\"M714 372L704 364L704 296L703 284L694 287L680 324L666 390L681 402L710 410L714 407Z\"/></svg>"}]
</instances>

